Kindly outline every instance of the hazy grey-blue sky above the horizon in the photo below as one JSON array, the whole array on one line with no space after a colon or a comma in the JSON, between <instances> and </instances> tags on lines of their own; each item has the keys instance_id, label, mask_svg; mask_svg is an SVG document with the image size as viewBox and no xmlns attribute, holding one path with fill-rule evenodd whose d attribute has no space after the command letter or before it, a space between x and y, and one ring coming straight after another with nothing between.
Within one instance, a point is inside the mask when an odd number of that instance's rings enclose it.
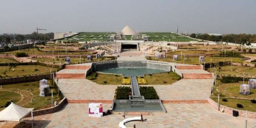
<instances>
[{"instance_id":1,"label":"hazy grey-blue sky above the horizon","mask_svg":"<svg viewBox=\"0 0 256 128\"><path fill-rule=\"evenodd\" d=\"M256 34L255 0L1 0L0 34L141 32Z\"/></svg>"}]
</instances>

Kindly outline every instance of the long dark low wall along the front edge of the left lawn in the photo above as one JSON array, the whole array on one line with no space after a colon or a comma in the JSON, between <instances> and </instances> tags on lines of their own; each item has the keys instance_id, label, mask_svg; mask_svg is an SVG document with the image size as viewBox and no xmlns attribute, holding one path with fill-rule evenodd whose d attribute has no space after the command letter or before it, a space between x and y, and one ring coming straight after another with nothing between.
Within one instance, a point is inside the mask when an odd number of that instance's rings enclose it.
<instances>
[{"instance_id":1,"label":"long dark low wall along the front edge of the left lawn","mask_svg":"<svg viewBox=\"0 0 256 128\"><path fill-rule=\"evenodd\" d=\"M0 84L32 82L32 81L39 81L41 79L51 79L51 75L50 74L41 74L41 75L32 75L32 76L2 78L2 79L0 79Z\"/></svg>"}]
</instances>

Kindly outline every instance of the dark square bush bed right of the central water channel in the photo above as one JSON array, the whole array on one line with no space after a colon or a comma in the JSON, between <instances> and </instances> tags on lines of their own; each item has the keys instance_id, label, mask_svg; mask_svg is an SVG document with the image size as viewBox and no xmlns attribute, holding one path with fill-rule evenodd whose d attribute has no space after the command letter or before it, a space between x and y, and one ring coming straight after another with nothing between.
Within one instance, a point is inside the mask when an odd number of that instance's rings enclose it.
<instances>
[{"instance_id":1,"label":"dark square bush bed right of the central water channel","mask_svg":"<svg viewBox=\"0 0 256 128\"><path fill-rule=\"evenodd\" d=\"M145 99L159 99L154 87L140 87L140 95Z\"/></svg>"}]
</instances>

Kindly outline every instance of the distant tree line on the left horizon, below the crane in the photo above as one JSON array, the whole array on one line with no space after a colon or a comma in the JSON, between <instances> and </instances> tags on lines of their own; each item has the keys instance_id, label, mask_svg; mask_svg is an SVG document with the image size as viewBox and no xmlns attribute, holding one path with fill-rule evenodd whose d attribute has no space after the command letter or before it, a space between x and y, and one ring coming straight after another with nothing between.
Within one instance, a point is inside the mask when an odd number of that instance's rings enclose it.
<instances>
[{"instance_id":1,"label":"distant tree line on the left horizon, below the crane","mask_svg":"<svg viewBox=\"0 0 256 128\"><path fill-rule=\"evenodd\" d=\"M26 41L27 39L34 40L50 40L54 38L54 33L36 33L33 32L31 34L6 34L0 35L0 42L11 42L11 41Z\"/></svg>"}]
</instances>

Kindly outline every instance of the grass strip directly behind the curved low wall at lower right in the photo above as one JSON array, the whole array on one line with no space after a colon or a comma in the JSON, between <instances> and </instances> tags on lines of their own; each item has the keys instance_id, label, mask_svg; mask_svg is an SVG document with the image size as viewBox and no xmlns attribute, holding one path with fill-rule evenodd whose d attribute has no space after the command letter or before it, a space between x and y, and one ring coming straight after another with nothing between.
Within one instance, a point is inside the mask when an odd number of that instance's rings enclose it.
<instances>
[{"instance_id":1,"label":"grass strip directly behind the curved low wall at lower right","mask_svg":"<svg viewBox=\"0 0 256 128\"><path fill-rule=\"evenodd\" d=\"M218 102L218 98L212 98L214 101ZM229 108L238 109L238 110L247 110L251 112L256 112L256 103L252 103L250 100L243 100L243 99L231 99L226 98L228 101L222 101L223 98L220 98L220 104L228 106ZM243 108L238 108L237 103L243 105ZM225 111L225 110L224 110Z\"/></svg>"}]
</instances>

